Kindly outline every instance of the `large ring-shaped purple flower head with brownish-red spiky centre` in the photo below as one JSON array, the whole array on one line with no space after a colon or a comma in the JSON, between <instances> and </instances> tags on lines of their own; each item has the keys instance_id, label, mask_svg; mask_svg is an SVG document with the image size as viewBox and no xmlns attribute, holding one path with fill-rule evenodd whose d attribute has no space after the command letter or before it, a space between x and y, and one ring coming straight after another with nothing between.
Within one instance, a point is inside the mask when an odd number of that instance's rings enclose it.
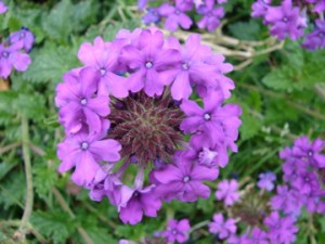
<instances>
[{"instance_id":1,"label":"large ring-shaped purple flower head with brownish-red spiky centre","mask_svg":"<svg viewBox=\"0 0 325 244\"><path fill-rule=\"evenodd\" d=\"M181 46L154 28L98 37L78 57L83 66L56 88L66 133L58 170L75 168L73 181L94 201L107 197L125 223L156 217L161 201L209 197L204 181L237 151L242 111L223 104L232 65L198 35Z\"/></svg>"}]
</instances>

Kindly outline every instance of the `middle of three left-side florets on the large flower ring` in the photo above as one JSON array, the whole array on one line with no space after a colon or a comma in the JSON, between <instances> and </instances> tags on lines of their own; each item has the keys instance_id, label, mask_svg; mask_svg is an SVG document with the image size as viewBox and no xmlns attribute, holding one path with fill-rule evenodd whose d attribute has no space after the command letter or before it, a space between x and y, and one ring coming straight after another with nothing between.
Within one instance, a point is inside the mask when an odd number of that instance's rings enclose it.
<instances>
[{"instance_id":1,"label":"middle of three left-side florets on the large flower ring","mask_svg":"<svg viewBox=\"0 0 325 244\"><path fill-rule=\"evenodd\" d=\"M66 74L64 84L56 87L56 106L60 121L68 133L77 133L83 128L90 132L102 132L102 118L109 114L108 95L95 95L99 74L92 68L83 68L79 76Z\"/></svg>"}]
</instances>

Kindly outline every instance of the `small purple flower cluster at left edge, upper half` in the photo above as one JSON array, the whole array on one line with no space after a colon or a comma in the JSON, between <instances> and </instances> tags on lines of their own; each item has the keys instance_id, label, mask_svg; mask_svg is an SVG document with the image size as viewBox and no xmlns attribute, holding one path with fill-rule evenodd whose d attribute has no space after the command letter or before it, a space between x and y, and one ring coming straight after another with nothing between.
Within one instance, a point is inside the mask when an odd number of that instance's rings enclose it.
<instances>
[{"instance_id":1,"label":"small purple flower cluster at left edge, upper half","mask_svg":"<svg viewBox=\"0 0 325 244\"><path fill-rule=\"evenodd\" d=\"M1 11L1 3L0 3ZM28 52L34 44L34 35L25 27L12 33L8 40L0 43L0 78L8 78L13 68L25 72L31 60Z\"/></svg>"}]
</instances>

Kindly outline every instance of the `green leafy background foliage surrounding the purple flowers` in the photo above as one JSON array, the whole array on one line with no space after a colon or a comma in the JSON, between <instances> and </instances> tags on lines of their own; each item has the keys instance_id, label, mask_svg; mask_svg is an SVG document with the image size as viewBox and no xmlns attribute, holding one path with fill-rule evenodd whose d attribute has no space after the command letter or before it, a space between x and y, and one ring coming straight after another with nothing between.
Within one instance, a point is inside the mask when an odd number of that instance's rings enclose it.
<instances>
[{"instance_id":1,"label":"green leafy background foliage surrounding the purple flowers","mask_svg":"<svg viewBox=\"0 0 325 244\"><path fill-rule=\"evenodd\" d=\"M76 57L80 43L92 41L98 35L110 40L118 29L141 25L135 1L5 2L10 11L0 15L0 31L8 36L27 26L36 35L36 46L29 69L12 75L10 88L0 91L0 243L16 243L13 235L25 204L22 144L26 141L22 137L22 118L28 119L35 190L28 243L89 243L89 239L95 244L117 243L121 237L140 240L152 235L162 230L171 216L188 218L192 224L211 219L222 208L213 194L193 204L172 202L164 206L158 218L125 226L107 201L90 201L67 174L61 176L56 171L55 146L63 139L63 131L56 123L55 86L65 72L80 65ZM242 40L268 37L260 21L249 17L251 3L229 1L223 28L226 35ZM236 90L230 102L243 107L243 126L239 153L231 156L219 180L238 178L245 189L265 170L276 172L281 179L280 149L290 145L300 134L325 137L324 54L308 52L299 43L287 41L280 51L259 55L249 66L231 74ZM227 61L238 62L232 57ZM211 189L216 189L216 183ZM257 191L252 190L253 194ZM308 221L301 218L300 222ZM311 235L317 243L325 243L325 218L313 218L309 227L311 223L317 231L300 232L297 243L308 243ZM200 230L193 233L192 243L213 243L212 239Z\"/></svg>"}]
</instances>

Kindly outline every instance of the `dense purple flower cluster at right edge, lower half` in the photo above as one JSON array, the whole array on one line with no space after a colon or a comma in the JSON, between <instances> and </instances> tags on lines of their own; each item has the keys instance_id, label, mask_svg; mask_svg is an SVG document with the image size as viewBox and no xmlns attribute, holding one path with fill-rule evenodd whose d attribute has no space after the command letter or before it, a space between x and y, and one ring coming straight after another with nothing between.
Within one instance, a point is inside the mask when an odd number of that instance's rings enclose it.
<instances>
[{"instance_id":1,"label":"dense purple flower cluster at right edge, lower half","mask_svg":"<svg viewBox=\"0 0 325 244\"><path fill-rule=\"evenodd\" d=\"M284 181L277 187L277 194L272 197L273 209L297 217L301 207L309 213L325 214L325 196L323 190L325 155L322 151L325 142L321 139L309 142L307 137L295 141L280 154L283 164Z\"/></svg>"}]
</instances>

